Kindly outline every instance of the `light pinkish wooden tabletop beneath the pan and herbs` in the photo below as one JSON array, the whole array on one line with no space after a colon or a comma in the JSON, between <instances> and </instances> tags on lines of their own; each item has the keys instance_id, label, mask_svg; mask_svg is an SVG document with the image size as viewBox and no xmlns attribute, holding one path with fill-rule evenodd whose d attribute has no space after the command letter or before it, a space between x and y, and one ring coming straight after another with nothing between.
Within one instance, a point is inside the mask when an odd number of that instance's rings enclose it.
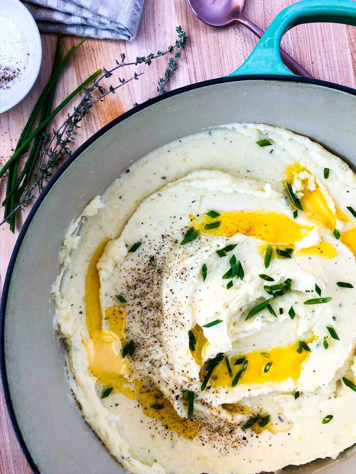
<instances>
[{"instance_id":1,"label":"light pinkish wooden tabletop beneath the pan and herbs","mask_svg":"<svg viewBox=\"0 0 356 474\"><path fill-rule=\"evenodd\" d=\"M259 27L265 29L276 14L293 0L247 0L244 14ZM164 50L176 40L175 27L181 25L189 36L186 52L179 68L169 82L175 89L193 82L221 77L234 71L249 55L257 38L236 24L222 28L209 27L200 22L190 10L186 0L145 0L138 35L131 43L112 40L87 39L67 65L56 95L59 104L75 87L99 67L111 68L120 53L134 60L136 56ZM56 36L43 34L43 60L37 83L30 94L17 107L0 116L0 161L5 163L16 146L20 132L47 82L52 64ZM65 36L66 50L78 43L75 36ZM282 41L284 49L303 65L314 77L355 87L356 77L356 28L336 24L301 25L290 30ZM155 60L149 67L124 68L120 74L107 80L107 86L118 83L117 76L131 77L133 71L144 72L139 81L131 82L116 95L109 95L95 106L91 116L84 119L75 145L81 145L88 137L122 112L131 109L134 102L143 102L156 95L157 81L163 75L166 58ZM76 101L58 114L52 127L57 128ZM55 105L56 105L55 104ZM330 111L330 113L332 113ZM0 202L3 199L5 180L0 182ZM1 208L1 216L3 208ZM27 212L21 213L15 235L9 226L0 228L0 290L4 282L9 258L19 228ZM1 219L2 220L2 217ZM22 455L14 435L0 388L0 473L30 474L31 470ZM44 473L43 473L44 474ZM65 474L65 473L63 473Z\"/></svg>"}]
</instances>

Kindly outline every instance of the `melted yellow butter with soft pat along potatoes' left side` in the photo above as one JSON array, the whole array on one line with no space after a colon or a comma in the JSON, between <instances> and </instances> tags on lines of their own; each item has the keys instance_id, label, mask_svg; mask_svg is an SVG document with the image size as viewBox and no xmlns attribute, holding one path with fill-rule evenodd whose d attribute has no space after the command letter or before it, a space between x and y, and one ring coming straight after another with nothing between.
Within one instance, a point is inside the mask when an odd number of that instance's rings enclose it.
<instances>
[{"instance_id":1,"label":"melted yellow butter with soft pat along potatoes' left side","mask_svg":"<svg viewBox=\"0 0 356 474\"><path fill-rule=\"evenodd\" d=\"M109 239L105 239L96 249L90 261L85 279L85 317L89 339L83 341L89 360L89 370L104 387L113 387L130 399L137 399L143 413L159 420L164 427L175 431L178 435L193 439L201 428L201 421L181 418L173 405L166 400L149 379L124 377L129 373L129 364L122 358L122 344L125 342L126 326L125 311L118 306L111 306L105 311L105 319L109 331L103 330L103 317L100 306L100 279L96 265L103 254ZM201 341L203 341L202 334ZM161 410L152 408L155 403L163 404Z\"/></svg>"}]
</instances>

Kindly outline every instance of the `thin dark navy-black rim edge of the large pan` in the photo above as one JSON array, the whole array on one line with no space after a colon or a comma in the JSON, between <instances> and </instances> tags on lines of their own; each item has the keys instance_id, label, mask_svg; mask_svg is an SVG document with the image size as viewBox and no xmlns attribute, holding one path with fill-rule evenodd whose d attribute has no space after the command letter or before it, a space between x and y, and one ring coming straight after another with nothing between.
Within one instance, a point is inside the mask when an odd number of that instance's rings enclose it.
<instances>
[{"instance_id":1,"label":"thin dark navy-black rim edge of the large pan","mask_svg":"<svg viewBox=\"0 0 356 474\"><path fill-rule=\"evenodd\" d=\"M26 457L26 460L34 472L34 474L41 474L34 459L31 456L31 453L28 450L28 447L25 443L25 440L22 436L18 421L16 419L16 414L14 407L12 405L11 401L11 396L10 396L10 390L9 390L9 382L6 374L6 364L5 364L5 346L4 346L4 338L5 338L5 313L6 313L6 303L8 299L8 294L9 294L9 287L10 287L10 281L11 281L11 276L12 272L15 266L16 258L19 253L20 246L22 244L22 241L26 235L26 232L28 230L29 225L32 222L32 219L35 217L35 214L41 205L41 203L44 201L45 197L47 196L48 192L51 190L51 188L54 186L54 184L58 181L58 179L61 177L61 175L66 171L68 166L74 162L74 160L81 155L84 150L92 145L95 140L97 140L99 137L101 137L104 133L109 131L112 127L115 125L121 123L123 120L126 118L131 117L135 113L146 109L147 107L150 107L151 105L165 99L169 99L169 97L173 97L175 95L181 94L183 92L188 92L188 91L193 91L195 89L199 89L201 87L206 87L210 85L215 85L215 84L221 84L225 82L239 82L239 81L282 81L282 82L296 82L296 83L307 83L307 84L315 84L323 87L328 87L329 89L334 89L337 91L341 92L347 92L351 95L356 95L356 89L353 89L351 87L347 86L342 86L340 84L334 83L334 82L327 82L327 81L320 81L319 79L309 79L307 77L301 77L301 76L295 76L295 75L272 75L272 74L253 74L253 75L242 75L242 76L229 76L229 77L222 77L222 78L217 78L217 79L209 79L207 81L202 81L202 82L197 82L195 84L190 84L187 86L180 87L179 89L176 89L174 91L169 91L166 92L164 95L161 95L159 97L155 97L153 99L147 100L146 102L138 105L137 107L134 107L131 110L128 110L127 112L123 113L119 117L114 118L111 122L109 122L107 125L105 125L103 128L98 130L97 132L94 133L94 135L88 140L84 142L83 145L79 146L77 150L66 160L64 164L59 168L59 170L52 176L50 181L47 183L47 186L45 187L44 191L40 194L40 196L37 198L35 201L30 213L28 214L27 219L25 220L20 232L19 232L19 237L15 243L14 249L11 254L11 258L9 261L9 267L6 272L6 277L4 281L4 286L2 289L2 298L1 298L1 306L0 306L0 375L1 375L1 381L2 381L2 388L4 392L4 398L5 398L5 403L6 407L9 413L9 418L12 423L12 427L14 429L14 432L16 434L17 440L19 442L19 445L22 449L22 452L24 456Z\"/></svg>"}]
</instances>

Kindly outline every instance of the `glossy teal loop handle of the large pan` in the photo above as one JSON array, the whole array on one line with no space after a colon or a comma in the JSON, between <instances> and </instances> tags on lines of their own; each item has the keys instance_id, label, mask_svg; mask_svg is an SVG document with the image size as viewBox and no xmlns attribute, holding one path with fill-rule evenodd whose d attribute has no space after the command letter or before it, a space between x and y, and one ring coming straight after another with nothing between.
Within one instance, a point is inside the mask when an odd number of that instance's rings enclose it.
<instances>
[{"instance_id":1,"label":"glossy teal loop handle of the large pan","mask_svg":"<svg viewBox=\"0 0 356 474\"><path fill-rule=\"evenodd\" d=\"M290 28L302 23L347 23L356 26L356 1L302 0L282 10L257 43L253 52L229 76L242 74L282 74L294 76L282 63L282 36Z\"/></svg>"}]
</instances>

